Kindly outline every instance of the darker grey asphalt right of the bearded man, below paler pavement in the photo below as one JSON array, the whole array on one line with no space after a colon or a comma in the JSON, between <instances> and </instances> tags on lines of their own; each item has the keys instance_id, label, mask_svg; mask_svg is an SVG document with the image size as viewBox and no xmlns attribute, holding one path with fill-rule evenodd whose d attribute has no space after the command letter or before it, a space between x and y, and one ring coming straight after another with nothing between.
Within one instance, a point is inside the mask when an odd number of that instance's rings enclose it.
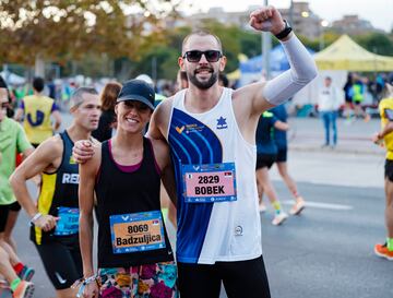
<instances>
[{"instance_id":1,"label":"darker grey asphalt right of the bearded man, below paler pavement","mask_svg":"<svg viewBox=\"0 0 393 298\"><path fill-rule=\"evenodd\" d=\"M282 183L277 188L286 192ZM392 263L372 252L384 236L382 190L310 183L300 189L309 201L336 205L307 207L278 228L269 223L271 214L263 215L272 297L393 297Z\"/></svg>"}]
</instances>

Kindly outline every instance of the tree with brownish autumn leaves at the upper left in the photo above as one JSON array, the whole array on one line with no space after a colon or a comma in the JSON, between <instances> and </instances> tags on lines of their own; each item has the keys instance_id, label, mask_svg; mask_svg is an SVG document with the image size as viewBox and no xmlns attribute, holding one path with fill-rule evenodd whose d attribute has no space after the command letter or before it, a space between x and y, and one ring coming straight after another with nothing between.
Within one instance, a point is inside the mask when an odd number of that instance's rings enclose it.
<instances>
[{"instance_id":1,"label":"tree with brownish autumn leaves at the upper left","mask_svg":"<svg viewBox=\"0 0 393 298\"><path fill-rule=\"evenodd\" d=\"M141 14L127 15L131 4ZM0 62L33 65L103 52L131 58L162 14L144 0L0 0Z\"/></svg>"}]
</instances>

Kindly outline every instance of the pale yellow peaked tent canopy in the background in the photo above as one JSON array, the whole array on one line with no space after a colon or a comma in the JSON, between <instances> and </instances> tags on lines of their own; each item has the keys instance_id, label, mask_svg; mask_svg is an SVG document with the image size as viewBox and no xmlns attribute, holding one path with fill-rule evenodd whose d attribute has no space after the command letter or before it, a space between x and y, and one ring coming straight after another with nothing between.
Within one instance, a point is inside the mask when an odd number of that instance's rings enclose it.
<instances>
[{"instance_id":1,"label":"pale yellow peaked tent canopy in the background","mask_svg":"<svg viewBox=\"0 0 393 298\"><path fill-rule=\"evenodd\" d=\"M314 60L320 70L393 71L393 57L367 51L348 35L315 53Z\"/></svg>"}]
</instances>

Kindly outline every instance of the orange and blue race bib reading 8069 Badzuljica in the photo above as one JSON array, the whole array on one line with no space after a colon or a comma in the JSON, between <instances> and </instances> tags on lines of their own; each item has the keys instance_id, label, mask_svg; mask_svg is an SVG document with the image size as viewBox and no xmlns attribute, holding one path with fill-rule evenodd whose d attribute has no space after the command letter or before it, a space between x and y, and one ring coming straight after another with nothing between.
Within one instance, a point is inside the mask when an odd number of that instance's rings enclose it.
<instances>
[{"instance_id":1,"label":"orange and blue race bib reading 8069 Badzuljica","mask_svg":"<svg viewBox=\"0 0 393 298\"><path fill-rule=\"evenodd\" d=\"M111 215L114 253L129 253L165 248L160 211Z\"/></svg>"}]
</instances>

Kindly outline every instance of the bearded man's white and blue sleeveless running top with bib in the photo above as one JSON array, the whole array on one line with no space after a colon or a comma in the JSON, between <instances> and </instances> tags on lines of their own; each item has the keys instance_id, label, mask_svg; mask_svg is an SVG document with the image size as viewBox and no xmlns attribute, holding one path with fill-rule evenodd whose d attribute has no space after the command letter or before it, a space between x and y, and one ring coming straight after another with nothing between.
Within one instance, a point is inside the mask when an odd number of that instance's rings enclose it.
<instances>
[{"instance_id":1,"label":"bearded man's white and blue sleeveless running top with bib","mask_svg":"<svg viewBox=\"0 0 393 298\"><path fill-rule=\"evenodd\" d=\"M233 91L209 111L175 95L167 140L178 192L177 261L214 264L262 254L255 182L257 148L236 122Z\"/></svg>"}]
</instances>

